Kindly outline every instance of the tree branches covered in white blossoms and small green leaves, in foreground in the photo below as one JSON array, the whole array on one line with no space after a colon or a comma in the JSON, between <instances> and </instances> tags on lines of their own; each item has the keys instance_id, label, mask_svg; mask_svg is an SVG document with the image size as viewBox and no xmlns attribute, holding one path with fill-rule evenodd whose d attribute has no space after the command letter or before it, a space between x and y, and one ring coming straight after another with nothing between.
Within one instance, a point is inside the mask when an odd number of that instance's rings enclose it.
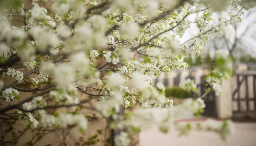
<instances>
[{"instance_id":1,"label":"tree branches covered in white blossoms and small green leaves, in foreground","mask_svg":"<svg viewBox=\"0 0 256 146\"><path fill-rule=\"evenodd\" d=\"M173 106L173 101L165 97L165 87L161 83L154 87L150 76L167 77L172 76L172 70L187 69L189 65L182 62L182 56L198 56L210 38L223 35L222 28L240 22L248 9L242 0L0 3L0 145L19 144L22 135L37 130L37 135L27 142L36 145L47 133L40 130L47 128L75 128L84 133L90 127L89 117L81 112L84 109L93 111L96 119L107 119L108 128L120 129L121 134L114 140L124 146L140 128L158 124L159 130L167 132L175 120L202 113L205 95ZM221 17L226 9L229 16ZM219 18L213 20L213 13ZM197 34L180 42L193 24ZM143 61L138 55L143 56ZM218 95L227 77L216 68L207 77L212 87L209 90ZM182 86L197 90L191 80ZM24 92L31 94L25 96ZM88 98L80 98L81 93ZM95 101L97 104L92 104ZM140 108L127 110L135 105ZM64 107L73 108L58 111ZM15 131L15 123L21 120L25 128ZM189 123L177 127L183 134L191 130ZM208 121L197 128L216 131L224 139L233 131L229 121Z\"/></svg>"}]
</instances>

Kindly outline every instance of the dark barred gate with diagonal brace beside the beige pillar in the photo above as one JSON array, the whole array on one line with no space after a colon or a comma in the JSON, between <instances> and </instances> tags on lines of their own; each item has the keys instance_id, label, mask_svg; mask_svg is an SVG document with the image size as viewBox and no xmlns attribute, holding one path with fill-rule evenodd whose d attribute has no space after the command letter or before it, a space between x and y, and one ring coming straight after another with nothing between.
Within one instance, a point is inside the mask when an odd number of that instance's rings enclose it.
<instances>
[{"instance_id":1,"label":"dark barred gate with diagonal brace beside the beige pillar","mask_svg":"<svg viewBox=\"0 0 256 146\"><path fill-rule=\"evenodd\" d=\"M256 112L255 80L255 72L243 72L236 74L237 88L232 93L233 113Z\"/></svg>"}]
</instances>

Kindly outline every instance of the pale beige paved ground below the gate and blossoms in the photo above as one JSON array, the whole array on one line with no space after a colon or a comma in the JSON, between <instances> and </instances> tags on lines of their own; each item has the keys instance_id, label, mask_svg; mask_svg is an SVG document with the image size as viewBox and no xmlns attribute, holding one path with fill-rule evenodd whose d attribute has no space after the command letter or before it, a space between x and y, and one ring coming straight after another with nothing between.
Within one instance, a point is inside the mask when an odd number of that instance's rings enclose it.
<instances>
[{"instance_id":1,"label":"pale beige paved ground below the gate and blossoms","mask_svg":"<svg viewBox=\"0 0 256 146\"><path fill-rule=\"evenodd\" d=\"M256 123L234 123L234 135L223 142L214 132L191 131L188 137L178 137L172 128L162 134L157 126L140 133L140 146L256 146Z\"/></svg>"}]
</instances>

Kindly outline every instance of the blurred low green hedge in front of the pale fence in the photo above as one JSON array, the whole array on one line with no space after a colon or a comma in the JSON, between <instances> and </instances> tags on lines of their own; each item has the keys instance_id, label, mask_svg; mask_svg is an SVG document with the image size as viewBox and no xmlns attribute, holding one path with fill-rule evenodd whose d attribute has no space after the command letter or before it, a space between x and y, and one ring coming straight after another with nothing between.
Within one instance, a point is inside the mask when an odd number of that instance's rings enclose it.
<instances>
[{"instance_id":1,"label":"blurred low green hedge in front of the pale fence","mask_svg":"<svg viewBox=\"0 0 256 146\"><path fill-rule=\"evenodd\" d=\"M188 92L187 90L185 90L183 88L174 86L174 87L166 87L165 96L185 99L185 98L191 97L192 93Z\"/></svg>"}]
</instances>

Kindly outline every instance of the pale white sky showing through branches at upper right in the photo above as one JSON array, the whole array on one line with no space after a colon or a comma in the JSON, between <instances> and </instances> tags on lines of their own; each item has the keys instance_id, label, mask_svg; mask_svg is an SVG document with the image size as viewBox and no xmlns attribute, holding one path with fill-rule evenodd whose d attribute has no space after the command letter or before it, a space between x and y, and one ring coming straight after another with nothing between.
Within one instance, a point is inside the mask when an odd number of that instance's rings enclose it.
<instances>
[{"instance_id":1,"label":"pale white sky showing through branches at upper right","mask_svg":"<svg viewBox=\"0 0 256 146\"><path fill-rule=\"evenodd\" d=\"M203 13L203 12L202 12ZM229 17L228 10L225 12L222 12L222 17ZM193 21L196 15L192 15L189 17L190 20ZM236 34L236 37L238 39L237 43L237 49L241 48L242 51L240 53L246 53L251 54L253 57L256 57L256 8L249 9L248 11L245 11L243 19L240 23L237 24L237 30L235 32L235 29L233 26L228 26L225 28L225 36L229 42L229 46L232 46L234 43L234 36ZM218 14L214 13L212 14L211 18L213 19L211 24L218 24ZM248 29L248 31L245 32L245 30ZM194 35L196 35L199 31L199 28L197 28L195 23L191 24L191 27L188 28L185 31L185 34L180 39L180 42L183 43L187 41L190 38L193 38ZM242 35L244 33L244 35ZM253 36L254 35L254 36ZM188 45L192 44L193 41L188 42ZM218 39L215 41L215 45L218 49L224 49L225 53L228 53L227 46L225 39ZM210 50L210 55L214 55L214 44L213 44L213 38L210 40L209 43L207 43L206 46L204 46L204 52L208 52ZM239 56L240 53L236 53L236 55Z\"/></svg>"}]
</instances>

